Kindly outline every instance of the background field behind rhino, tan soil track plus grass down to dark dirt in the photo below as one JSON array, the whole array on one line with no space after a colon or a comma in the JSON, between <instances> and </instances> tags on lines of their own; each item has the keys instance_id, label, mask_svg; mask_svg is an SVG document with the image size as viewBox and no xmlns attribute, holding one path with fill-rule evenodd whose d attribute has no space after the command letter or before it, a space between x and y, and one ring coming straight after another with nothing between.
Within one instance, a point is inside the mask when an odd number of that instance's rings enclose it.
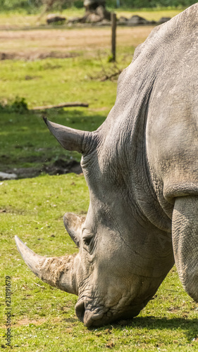
<instances>
[{"instance_id":1,"label":"background field behind rhino, tan soil track plus grass down to dark dirt","mask_svg":"<svg viewBox=\"0 0 198 352\"><path fill-rule=\"evenodd\" d=\"M96 130L116 99L117 77L113 76L113 80L105 77L125 68L132 59L135 46L150 32L151 27L138 30L137 27L120 28L118 59L114 65L108 62L111 54L109 29L1 31L4 40L0 43L0 50L7 54L20 53L23 60L0 61L0 102L10 106L19 96L31 109L64 101L85 101L89 108L52 109L45 111L44 115L63 125ZM34 58L51 51L75 57ZM31 55L32 60L27 60ZM31 165L42 167L43 163L52 163L63 157L80 160L77 153L63 151L51 137L42 121L43 112L11 113L7 110L1 110L0 120L1 171Z\"/></svg>"}]
</instances>

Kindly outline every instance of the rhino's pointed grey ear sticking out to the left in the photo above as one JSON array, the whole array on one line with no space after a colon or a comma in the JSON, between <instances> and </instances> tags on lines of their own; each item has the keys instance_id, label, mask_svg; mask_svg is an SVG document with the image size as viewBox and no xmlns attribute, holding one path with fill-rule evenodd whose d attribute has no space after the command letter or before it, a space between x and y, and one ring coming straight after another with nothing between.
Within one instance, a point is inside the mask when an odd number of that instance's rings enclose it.
<instances>
[{"instance_id":1,"label":"rhino's pointed grey ear sticking out to the left","mask_svg":"<svg viewBox=\"0 0 198 352\"><path fill-rule=\"evenodd\" d=\"M57 141L68 151L78 151L85 153L89 148L89 142L92 138L92 132L75 130L70 127L58 125L57 123L43 118L50 132L54 135Z\"/></svg>"}]
</instances>

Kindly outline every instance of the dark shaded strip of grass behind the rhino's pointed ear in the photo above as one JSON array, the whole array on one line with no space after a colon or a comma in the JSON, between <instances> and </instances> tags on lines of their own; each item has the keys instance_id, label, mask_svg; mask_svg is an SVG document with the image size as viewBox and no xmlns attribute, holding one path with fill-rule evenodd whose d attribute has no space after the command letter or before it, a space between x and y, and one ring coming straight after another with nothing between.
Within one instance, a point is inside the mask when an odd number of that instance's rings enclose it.
<instances>
[{"instance_id":1,"label":"dark shaded strip of grass behind the rhino's pointed ear","mask_svg":"<svg viewBox=\"0 0 198 352\"><path fill-rule=\"evenodd\" d=\"M93 131L104 122L103 113L93 113L82 108L51 109L44 113L1 113L0 121L0 170L42 167L45 161L65 158L80 161L77 152L65 151L51 135L42 120L49 120L78 130Z\"/></svg>"}]
</instances>

